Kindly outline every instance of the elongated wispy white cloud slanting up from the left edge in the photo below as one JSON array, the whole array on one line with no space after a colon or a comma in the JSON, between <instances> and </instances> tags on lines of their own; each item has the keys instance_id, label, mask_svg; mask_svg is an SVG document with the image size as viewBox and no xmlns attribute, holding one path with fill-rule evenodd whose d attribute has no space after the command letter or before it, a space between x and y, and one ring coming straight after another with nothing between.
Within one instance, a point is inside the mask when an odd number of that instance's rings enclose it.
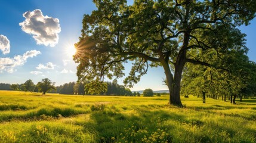
<instances>
[{"instance_id":1,"label":"elongated wispy white cloud slanting up from the left edge","mask_svg":"<svg viewBox=\"0 0 256 143\"><path fill-rule=\"evenodd\" d=\"M13 73L15 67L22 66L24 63L26 63L27 58L36 57L38 54L41 54L41 52L31 50L27 51L23 55L15 55L13 58L0 58L0 73L3 71Z\"/></svg>"}]
</instances>

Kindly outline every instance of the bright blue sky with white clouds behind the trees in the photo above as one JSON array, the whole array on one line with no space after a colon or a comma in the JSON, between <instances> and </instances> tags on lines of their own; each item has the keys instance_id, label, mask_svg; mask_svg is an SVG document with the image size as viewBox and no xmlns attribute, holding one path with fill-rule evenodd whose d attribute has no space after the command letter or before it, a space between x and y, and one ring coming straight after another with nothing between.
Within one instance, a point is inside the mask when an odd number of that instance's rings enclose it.
<instances>
[{"instance_id":1,"label":"bright blue sky with white clouds behind the trees","mask_svg":"<svg viewBox=\"0 0 256 143\"><path fill-rule=\"evenodd\" d=\"M0 83L24 83L28 79L37 83L45 77L55 85L76 81L73 44L81 35L83 15L92 10L95 5L88 0L0 0L0 42L10 47L0 47ZM44 18L46 24L38 23L38 18ZM240 29L247 35L248 56L256 61L256 19ZM126 73L130 66L125 65ZM168 89L162 85L164 77L162 67L149 69L131 90ZM119 79L120 84L123 79Z\"/></svg>"}]
</instances>

